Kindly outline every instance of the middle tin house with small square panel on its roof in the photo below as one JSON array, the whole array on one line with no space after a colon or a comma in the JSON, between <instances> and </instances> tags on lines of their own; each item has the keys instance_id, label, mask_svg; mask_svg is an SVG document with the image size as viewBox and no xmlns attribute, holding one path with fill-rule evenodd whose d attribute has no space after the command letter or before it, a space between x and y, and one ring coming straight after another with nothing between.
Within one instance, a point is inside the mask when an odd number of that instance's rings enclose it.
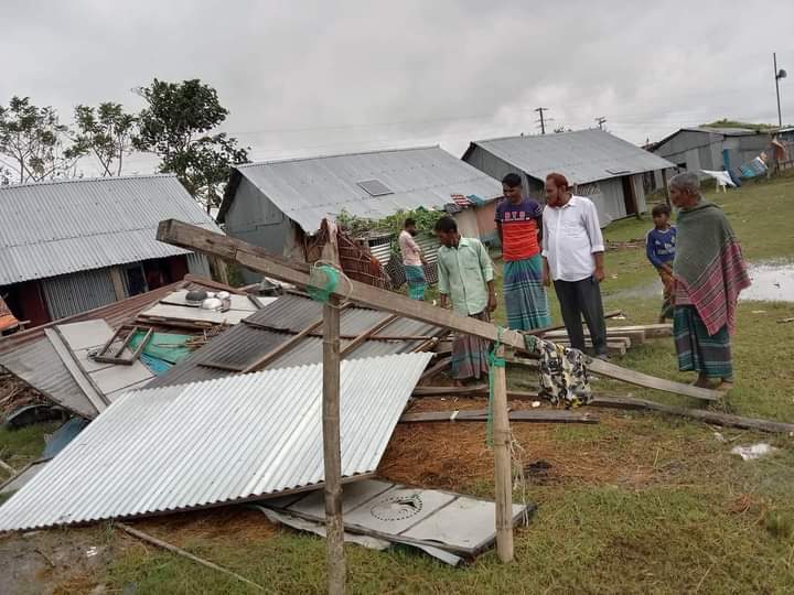
<instances>
[{"instance_id":1,"label":"middle tin house with small square panel on its roof","mask_svg":"<svg viewBox=\"0 0 794 595\"><path fill-rule=\"evenodd\" d=\"M372 151L236 165L218 223L229 236L305 260L308 239L324 218L342 212L377 220L399 210L447 206L462 235L490 239L500 196L496 180L439 147ZM385 263L388 239L366 241Z\"/></svg>"}]
</instances>

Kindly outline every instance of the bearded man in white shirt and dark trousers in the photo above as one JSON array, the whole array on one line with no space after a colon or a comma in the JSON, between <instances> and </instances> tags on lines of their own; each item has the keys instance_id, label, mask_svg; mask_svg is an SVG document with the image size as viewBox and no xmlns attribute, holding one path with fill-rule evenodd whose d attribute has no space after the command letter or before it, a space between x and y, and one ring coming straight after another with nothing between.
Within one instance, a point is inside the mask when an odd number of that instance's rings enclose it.
<instances>
[{"instance_id":1,"label":"bearded man in white shirt and dark trousers","mask_svg":"<svg viewBox=\"0 0 794 595\"><path fill-rule=\"evenodd\" d=\"M584 316L596 356L607 359L600 288L604 246L596 205L571 194L562 174L551 173L546 177L543 225L544 284L554 281L571 347L584 350Z\"/></svg>"}]
</instances>

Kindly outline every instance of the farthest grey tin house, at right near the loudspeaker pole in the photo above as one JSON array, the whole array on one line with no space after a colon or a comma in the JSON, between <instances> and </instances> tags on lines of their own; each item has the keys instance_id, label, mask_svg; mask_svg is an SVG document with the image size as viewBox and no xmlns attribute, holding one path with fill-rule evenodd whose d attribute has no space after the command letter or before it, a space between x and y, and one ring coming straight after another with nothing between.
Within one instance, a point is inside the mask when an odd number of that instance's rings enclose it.
<instances>
[{"instance_id":1,"label":"farthest grey tin house, at right near the loudspeaker pole","mask_svg":"<svg viewBox=\"0 0 794 595\"><path fill-rule=\"evenodd\" d=\"M706 177L702 170L737 171L768 151L771 143L772 137L769 132L751 128L701 126L682 128L655 142L651 151L670 161L679 172L693 172ZM661 187L661 176L655 177L655 187Z\"/></svg>"}]
</instances>

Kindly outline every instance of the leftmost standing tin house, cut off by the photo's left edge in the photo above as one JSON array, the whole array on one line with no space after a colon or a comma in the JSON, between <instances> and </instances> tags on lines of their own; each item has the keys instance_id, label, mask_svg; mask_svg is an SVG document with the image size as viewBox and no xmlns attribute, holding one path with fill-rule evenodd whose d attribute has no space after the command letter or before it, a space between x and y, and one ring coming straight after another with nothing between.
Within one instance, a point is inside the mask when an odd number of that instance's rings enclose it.
<instances>
[{"instance_id":1,"label":"leftmost standing tin house, cut off by the photo's left edge","mask_svg":"<svg viewBox=\"0 0 794 595\"><path fill-rule=\"evenodd\" d=\"M168 218L221 231L173 175L0 186L0 296L36 326L210 277L204 256L155 239Z\"/></svg>"}]
</instances>

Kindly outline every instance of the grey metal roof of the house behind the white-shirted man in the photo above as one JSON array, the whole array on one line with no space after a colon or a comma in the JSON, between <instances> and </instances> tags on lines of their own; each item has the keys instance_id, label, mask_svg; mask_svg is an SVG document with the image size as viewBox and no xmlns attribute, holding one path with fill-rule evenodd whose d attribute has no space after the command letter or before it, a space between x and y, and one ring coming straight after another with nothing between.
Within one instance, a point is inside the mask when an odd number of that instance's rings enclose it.
<instances>
[{"instance_id":1,"label":"grey metal roof of the house behind the white-shirted man","mask_svg":"<svg viewBox=\"0 0 794 595\"><path fill-rule=\"evenodd\" d=\"M571 184L675 166L599 129L482 140L472 145L481 147L537 180L558 172Z\"/></svg>"}]
</instances>

